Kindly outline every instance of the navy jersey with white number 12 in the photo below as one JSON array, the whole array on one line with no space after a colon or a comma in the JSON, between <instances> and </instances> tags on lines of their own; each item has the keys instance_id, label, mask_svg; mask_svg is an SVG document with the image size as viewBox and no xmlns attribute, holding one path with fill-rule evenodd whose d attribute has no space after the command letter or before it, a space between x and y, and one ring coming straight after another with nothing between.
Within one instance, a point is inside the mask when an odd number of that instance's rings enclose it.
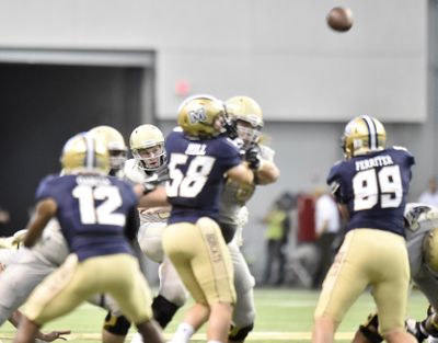
<instances>
[{"instance_id":1,"label":"navy jersey with white number 12","mask_svg":"<svg viewBox=\"0 0 438 343\"><path fill-rule=\"evenodd\" d=\"M36 198L48 197L57 203L62 235L80 261L132 253L126 238L134 239L138 230L137 196L127 183L95 174L48 176Z\"/></svg>"}]
</instances>

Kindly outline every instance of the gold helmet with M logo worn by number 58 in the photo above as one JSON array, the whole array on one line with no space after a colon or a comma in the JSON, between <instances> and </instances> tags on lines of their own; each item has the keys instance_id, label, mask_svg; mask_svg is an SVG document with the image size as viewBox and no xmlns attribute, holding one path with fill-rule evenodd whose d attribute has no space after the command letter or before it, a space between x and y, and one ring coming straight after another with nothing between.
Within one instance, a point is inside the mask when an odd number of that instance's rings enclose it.
<instances>
[{"instance_id":1,"label":"gold helmet with M logo worn by number 58","mask_svg":"<svg viewBox=\"0 0 438 343\"><path fill-rule=\"evenodd\" d=\"M223 129L223 103L210 95L194 95L178 108L177 123L191 137L208 138Z\"/></svg>"}]
</instances>

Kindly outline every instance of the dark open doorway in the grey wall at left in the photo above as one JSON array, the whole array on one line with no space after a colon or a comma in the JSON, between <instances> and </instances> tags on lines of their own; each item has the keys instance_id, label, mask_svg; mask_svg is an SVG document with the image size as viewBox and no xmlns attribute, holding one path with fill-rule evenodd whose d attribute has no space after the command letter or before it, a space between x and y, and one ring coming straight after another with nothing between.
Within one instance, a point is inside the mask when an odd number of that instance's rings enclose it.
<instances>
[{"instance_id":1,"label":"dark open doorway in the grey wall at left","mask_svg":"<svg viewBox=\"0 0 438 343\"><path fill-rule=\"evenodd\" d=\"M0 64L0 206L11 215L0 236L24 228L69 137L106 124L129 138L141 119L142 78L142 68Z\"/></svg>"}]
</instances>

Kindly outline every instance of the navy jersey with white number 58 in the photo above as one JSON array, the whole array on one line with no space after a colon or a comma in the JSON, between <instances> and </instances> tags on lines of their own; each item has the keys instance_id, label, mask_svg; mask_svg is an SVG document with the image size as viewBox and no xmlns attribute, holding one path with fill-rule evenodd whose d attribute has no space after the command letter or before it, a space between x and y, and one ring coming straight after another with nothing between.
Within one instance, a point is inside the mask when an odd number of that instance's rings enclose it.
<instances>
[{"instance_id":1,"label":"navy jersey with white number 58","mask_svg":"<svg viewBox=\"0 0 438 343\"><path fill-rule=\"evenodd\" d=\"M166 138L170 181L166 183L172 213L169 224L217 219L224 173L241 163L238 147L227 137L189 140L173 130Z\"/></svg>"}]
</instances>

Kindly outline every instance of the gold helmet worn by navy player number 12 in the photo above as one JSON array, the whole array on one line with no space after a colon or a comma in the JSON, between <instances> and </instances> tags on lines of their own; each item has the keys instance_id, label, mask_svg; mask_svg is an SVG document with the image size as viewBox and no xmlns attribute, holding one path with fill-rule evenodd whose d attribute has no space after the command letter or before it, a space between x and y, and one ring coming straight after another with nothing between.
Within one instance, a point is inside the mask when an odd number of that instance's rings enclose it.
<instances>
[{"instance_id":1,"label":"gold helmet worn by navy player number 12","mask_svg":"<svg viewBox=\"0 0 438 343\"><path fill-rule=\"evenodd\" d=\"M64 146L60 162L62 174L110 171L110 153L104 141L88 133L71 137Z\"/></svg>"}]
</instances>

